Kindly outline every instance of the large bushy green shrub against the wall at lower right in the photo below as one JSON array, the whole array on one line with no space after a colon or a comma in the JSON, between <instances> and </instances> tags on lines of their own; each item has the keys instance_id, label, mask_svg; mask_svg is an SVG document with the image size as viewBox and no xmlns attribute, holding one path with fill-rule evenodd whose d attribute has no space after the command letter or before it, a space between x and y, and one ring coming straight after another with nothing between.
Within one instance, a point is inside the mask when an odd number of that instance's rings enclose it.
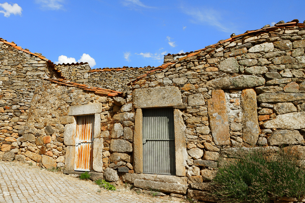
<instances>
[{"instance_id":1,"label":"large bushy green shrub against the wall at lower right","mask_svg":"<svg viewBox=\"0 0 305 203\"><path fill-rule=\"evenodd\" d=\"M225 159L214 178L214 193L222 201L270 202L270 198L305 195L305 171L298 165L296 148L278 152L252 148L237 152L238 159Z\"/></svg>"}]
</instances>

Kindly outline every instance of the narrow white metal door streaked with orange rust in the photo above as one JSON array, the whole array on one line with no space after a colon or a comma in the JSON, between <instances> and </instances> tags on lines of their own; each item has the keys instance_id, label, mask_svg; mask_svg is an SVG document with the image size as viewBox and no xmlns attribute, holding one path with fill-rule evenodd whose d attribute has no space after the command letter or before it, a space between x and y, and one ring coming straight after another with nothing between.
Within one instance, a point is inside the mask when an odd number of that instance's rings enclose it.
<instances>
[{"instance_id":1,"label":"narrow white metal door streaked with orange rust","mask_svg":"<svg viewBox=\"0 0 305 203\"><path fill-rule=\"evenodd\" d=\"M77 116L74 170L92 170L94 115Z\"/></svg>"}]
</instances>

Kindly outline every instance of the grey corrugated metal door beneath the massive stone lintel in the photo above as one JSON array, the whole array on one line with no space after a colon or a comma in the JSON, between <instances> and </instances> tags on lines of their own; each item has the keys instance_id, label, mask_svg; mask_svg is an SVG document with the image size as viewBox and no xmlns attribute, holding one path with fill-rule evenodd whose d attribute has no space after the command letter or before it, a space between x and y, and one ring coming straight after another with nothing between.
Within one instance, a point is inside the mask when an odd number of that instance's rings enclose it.
<instances>
[{"instance_id":1,"label":"grey corrugated metal door beneath the massive stone lintel","mask_svg":"<svg viewBox=\"0 0 305 203\"><path fill-rule=\"evenodd\" d=\"M143 173L175 175L174 111L143 109Z\"/></svg>"}]
</instances>

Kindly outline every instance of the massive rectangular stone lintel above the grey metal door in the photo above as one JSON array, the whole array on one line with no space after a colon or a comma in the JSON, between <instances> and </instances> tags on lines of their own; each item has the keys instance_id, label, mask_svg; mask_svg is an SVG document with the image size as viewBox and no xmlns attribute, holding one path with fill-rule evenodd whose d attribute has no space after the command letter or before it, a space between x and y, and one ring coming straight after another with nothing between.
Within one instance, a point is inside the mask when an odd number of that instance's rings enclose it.
<instances>
[{"instance_id":1,"label":"massive rectangular stone lintel above the grey metal door","mask_svg":"<svg viewBox=\"0 0 305 203\"><path fill-rule=\"evenodd\" d=\"M173 107L182 105L178 87L153 87L135 89L132 94L134 108Z\"/></svg>"}]
</instances>

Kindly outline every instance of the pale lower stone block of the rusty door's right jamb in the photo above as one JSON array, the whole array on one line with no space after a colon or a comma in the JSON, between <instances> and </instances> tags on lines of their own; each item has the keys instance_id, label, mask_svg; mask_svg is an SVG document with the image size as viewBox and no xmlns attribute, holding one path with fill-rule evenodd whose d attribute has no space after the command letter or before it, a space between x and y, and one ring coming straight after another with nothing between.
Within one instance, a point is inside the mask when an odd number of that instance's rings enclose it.
<instances>
[{"instance_id":1,"label":"pale lower stone block of the rusty door's right jamb","mask_svg":"<svg viewBox=\"0 0 305 203\"><path fill-rule=\"evenodd\" d=\"M96 172L103 172L103 149L104 149L104 139L95 138L93 140L93 159L92 159L92 168Z\"/></svg>"}]
</instances>

